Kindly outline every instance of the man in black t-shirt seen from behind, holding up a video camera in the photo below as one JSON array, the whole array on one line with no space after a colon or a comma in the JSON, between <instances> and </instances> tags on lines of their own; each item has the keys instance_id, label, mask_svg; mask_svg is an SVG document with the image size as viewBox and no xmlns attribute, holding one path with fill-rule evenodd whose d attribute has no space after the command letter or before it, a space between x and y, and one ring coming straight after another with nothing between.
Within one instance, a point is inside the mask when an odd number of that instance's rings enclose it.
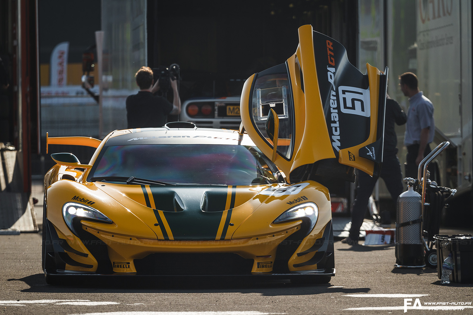
<instances>
[{"instance_id":1,"label":"man in black t-shirt seen from behind, holding up a video camera","mask_svg":"<svg viewBox=\"0 0 473 315\"><path fill-rule=\"evenodd\" d=\"M141 67L135 79L140 91L126 98L128 128L162 127L166 124L168 114L179 114L181 100L175 80L171 80L174 96L171 104L164 97L154 95L159 90L159 80L154 83L151 68Z\"/></svg>"}]
</instances>

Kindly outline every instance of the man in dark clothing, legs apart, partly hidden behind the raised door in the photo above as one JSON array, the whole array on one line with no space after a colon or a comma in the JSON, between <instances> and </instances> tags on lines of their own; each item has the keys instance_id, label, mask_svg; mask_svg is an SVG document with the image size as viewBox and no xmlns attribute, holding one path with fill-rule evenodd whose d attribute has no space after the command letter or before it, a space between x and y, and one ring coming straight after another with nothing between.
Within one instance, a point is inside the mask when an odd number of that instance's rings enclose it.
<instances>
[{"instance_id":1,"label":"man in dark clothing, legs apart, partly hidden behind the raised door","mask_svg":"<svg viewBox=\"0 0 473 315\"><path fill-rule=\"evenodd\" d=\"M389 95L386 95L383 165L379 176L385 181L394 204L397 201L397 197L404 190L401 163L396 155L397 136L394 130L394 123L403 125L405 122L406 114L399 103L391 99ZM351 208L350 235L342 240L342 243L349 245L358 244L359 229L363 223L369 196L371 196L378 178L371 177L367 173L358 170L357 180L356 199Z\"/></svg>"}]
</instances>

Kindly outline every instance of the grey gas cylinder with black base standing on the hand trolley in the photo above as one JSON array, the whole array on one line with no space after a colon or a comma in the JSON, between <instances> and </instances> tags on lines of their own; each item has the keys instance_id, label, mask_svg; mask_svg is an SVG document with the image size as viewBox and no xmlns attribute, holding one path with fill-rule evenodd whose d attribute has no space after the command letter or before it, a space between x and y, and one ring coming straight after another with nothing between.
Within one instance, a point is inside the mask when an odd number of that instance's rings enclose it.
<instances>
[{"instance_id":1,"label":"grey gas cylinder with black base standing on the hand trolley","mask_svg":"<svg viewBox=\"0 0 473 315\"><path fill-rule=\"evenodd\" d=\"M397 268L425 267L421 236L421 196L414 190L415 179L404 179L407 191L397 198L395 255Z\"/></svg>"}]
</instances>

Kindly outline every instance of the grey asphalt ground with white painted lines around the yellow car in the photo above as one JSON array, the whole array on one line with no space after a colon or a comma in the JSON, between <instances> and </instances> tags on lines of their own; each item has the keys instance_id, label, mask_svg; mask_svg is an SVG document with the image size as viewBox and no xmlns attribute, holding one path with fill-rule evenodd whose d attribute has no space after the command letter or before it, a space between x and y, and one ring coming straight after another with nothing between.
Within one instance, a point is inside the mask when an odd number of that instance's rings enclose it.
<instances>
[{"instance_id":1,"label":"grey asphalt ground with white painted lines around the yellow car","mask_svg":"<svg viewBox=\"0 0 473 315\"><path fill-rule=\"evenodd\" d=\"M35 208L41 216L42 199ZM409 314L473 314L471 283L442 285L436 269L394 268L393 245L336 240L334 248L336 276L329 284L129 277L50 286L41 270L41 232L0 235L0 314L404 314L404 305Z\"/></svg>"}]
</instances>

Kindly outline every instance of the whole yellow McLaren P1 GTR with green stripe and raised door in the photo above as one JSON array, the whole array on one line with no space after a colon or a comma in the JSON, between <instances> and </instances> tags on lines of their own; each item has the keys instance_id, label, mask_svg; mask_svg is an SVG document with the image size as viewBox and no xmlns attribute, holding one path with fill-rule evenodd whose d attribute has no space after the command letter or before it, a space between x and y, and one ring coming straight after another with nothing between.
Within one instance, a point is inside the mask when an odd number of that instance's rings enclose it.
<instances>
[{"instance_id":1,"label":"whole yellow McLaren P1 GTR with green stripe and raised door","mask_svg":"<svg viewBox=\"0 0 473 315\"><path fill-rule=\"evenodd\" d=\"M324 182L382 161L386 71L362 75L311 26L285 63L242 91L240 130L188 122L47 137L71 153L44 177L42 266L64 276L237 276L329 282L335 275ZM387 69L386 69L387 70Z\"/></svg>"}]
</instances>

